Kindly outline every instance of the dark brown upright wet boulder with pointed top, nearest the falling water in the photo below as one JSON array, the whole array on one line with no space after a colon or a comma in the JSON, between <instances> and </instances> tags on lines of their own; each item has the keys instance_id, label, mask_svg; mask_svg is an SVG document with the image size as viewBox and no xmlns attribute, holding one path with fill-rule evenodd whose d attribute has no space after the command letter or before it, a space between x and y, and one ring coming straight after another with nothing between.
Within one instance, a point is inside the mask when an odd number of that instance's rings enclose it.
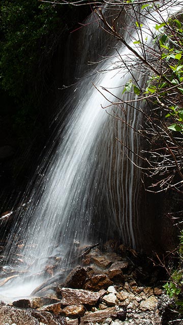
<instances>
[{"instance_id":1,"label":"dark brown upright wet boulder with pointed top, nearest the falling water","mask_svg":"<svg viewBox=\"0 0 183 325\"><path fill-rule=\"evenodd\" d=\"M76 267L67 276L64 287L81 289L87 276L87 271L84 268Z\"/></svg>"}]
</instances>

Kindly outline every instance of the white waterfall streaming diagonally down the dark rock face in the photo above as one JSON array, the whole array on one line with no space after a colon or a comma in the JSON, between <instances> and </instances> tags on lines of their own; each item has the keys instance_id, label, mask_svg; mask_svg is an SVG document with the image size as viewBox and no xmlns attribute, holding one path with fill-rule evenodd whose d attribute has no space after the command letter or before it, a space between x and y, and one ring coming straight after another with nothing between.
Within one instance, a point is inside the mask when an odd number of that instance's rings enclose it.
<instances>
[{"instance_id":1,"label":"white waterfall streaming diagonally down the dark rock face","mask_svg":"<svg viewBox=\"0 0 183 325\"><path fill-rule=\"evenodd\" d=\"M138 128L141 114L126 105L119 107L119 111L125 110L126 121L132 126L126 128L101 108L101 105L106 107L115 102L115 96L120 98L123 86L131 78L128 69L121 67L120 56L127 57L132 64L133 57L128 49L122 48L120 55L113 49L110 58L98 64L96 71L100 73L88 75L78 82L70 94L72 98L62 107L62 112L69 108L70 114L64 125L58 127L54 141L59 143L56 152L45 157L38 171L38 174L44 174L44 181L39 177L34 190L26 193L30 203L26 211L19 213L8 238L11 245L7 251L8 259L11 259L19 252L17 242L21 239L24 247L21 254L30 274L43 270L46 258L58 252L67 265L74 253L74 243L80 241L84 245L94 239L97 241L105 236L104 233L101 235L102 229L105 229L106 237L107 233L116 231L127 245L138 245L139 170L133 163L137 164L134 151L137 152L139 147L134 129ZM139 80L141 76L134 72L134 77ZM141 77L139 84L143 82ZM107 100L106 92L102 95L92 83L110 90ZM123 96L125 101L134 99L131 93ZM112 112L111 107L108 112ZM61 133L59 129L62 129ZM131 148L128 158L115 137ZM23 278L20 283L18 278L11 284L11 289L4 286L4 296L14 295L12 287L15 292L18 287L19 296L29 295L43 278L29 281L29 278L28 281ZM25 285L27 282L28 286Z\"/></svg>"}]
</instances>

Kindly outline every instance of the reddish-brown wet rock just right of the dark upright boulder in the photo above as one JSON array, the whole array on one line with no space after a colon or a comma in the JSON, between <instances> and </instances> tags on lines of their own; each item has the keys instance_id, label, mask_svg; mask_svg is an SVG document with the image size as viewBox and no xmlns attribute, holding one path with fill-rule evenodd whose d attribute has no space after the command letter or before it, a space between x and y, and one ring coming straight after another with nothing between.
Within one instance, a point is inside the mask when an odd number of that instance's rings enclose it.
<instances>
[{"instance_id":1,"label":"reddish-brown wet rock just right of the dark upright boulder","mask_svg":"<svg viewBox=\"0 0 183 325\"><path fill-rule=\"evenodd\" d=\"M98 291L100 289L107 289L113 282L105 274L94 275L86 280L83 288L86 290Z\"/></svg>"}]
</instances>

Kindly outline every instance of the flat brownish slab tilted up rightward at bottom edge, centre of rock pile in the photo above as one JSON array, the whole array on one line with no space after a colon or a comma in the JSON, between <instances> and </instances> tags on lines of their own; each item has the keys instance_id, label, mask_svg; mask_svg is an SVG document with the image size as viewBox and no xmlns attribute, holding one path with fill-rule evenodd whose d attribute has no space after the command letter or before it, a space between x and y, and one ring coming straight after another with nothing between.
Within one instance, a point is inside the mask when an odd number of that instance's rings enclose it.
<instances>
[{"instance_id":1,"label":"flat brownish slab tilted up rightward at bottom edge, centre of rock pile","mask_svg":"<svg viewBox=\"0 0 183 325\"><path fill-rule=\"evenodd\" d=\"M81 325L86 324L86 323L96 323L96 322L103 322L105 321L107 318L112 318L115 319L117 316L117 312L115 307L109 307L107 309L104 310L99 310L96 311L94 313L92 312L88 312L87 315L83 316L81 318Z\"/></svg>"}]
</instances>

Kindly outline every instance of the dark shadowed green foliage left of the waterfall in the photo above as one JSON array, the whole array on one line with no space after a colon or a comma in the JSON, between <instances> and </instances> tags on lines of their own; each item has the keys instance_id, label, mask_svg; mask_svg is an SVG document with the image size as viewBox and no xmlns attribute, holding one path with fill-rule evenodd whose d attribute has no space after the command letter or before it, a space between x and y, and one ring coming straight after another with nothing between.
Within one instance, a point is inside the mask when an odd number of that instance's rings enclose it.
<instances>
[{"instance_id":1,"label":"dark shadowed green foliage left of the waterfall","mask_svg":"<svg viewBox=\"0 0 183 325\"><path fill-rule=\"evenodd\" d=\"M5 138L5 144L13 143L16 149L15 175L23 165L25 151L35 147L39 152L39 145L44 144L51 115L48 94L54 92L53 56L86 12L38 0L1 1L1 143L4 145ZM29 158L35 152L29 152ZM27 164L25 169L26 174Z\"/></svg>"}]
</instances>

